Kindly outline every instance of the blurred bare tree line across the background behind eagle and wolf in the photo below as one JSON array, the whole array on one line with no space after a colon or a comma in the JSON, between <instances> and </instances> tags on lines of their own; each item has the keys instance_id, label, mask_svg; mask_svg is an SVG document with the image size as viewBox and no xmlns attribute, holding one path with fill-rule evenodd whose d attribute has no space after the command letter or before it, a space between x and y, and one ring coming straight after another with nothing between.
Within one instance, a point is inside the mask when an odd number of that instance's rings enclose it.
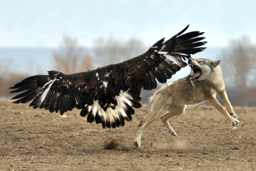
<instances>
[{"instance_id":1,"label":"blurred bare tree line across the background behind eagle and wolf","mask_svg":"<svg viewBox=\"0 0 256 171\"><path fill-rule=\"evenodd\" d=\"M77 39L63 37L59 49L53 52L53 60L57 70L63 73L83 72L119 63L146 51L143 42L138 39L96 39L93 54L85 51ZM206 50L207 51L207 50ZM229 47L217 57L221 60L223 78L226 83L228 98L232 105L256 105L256 46L250 39L231 40ZM0 61L0 97L10 97L9 87L27 75L20 75L8 69L6 62ZM157 86L160 88L161 84ZM142 91L142 103L155 91Z\"/></svg>"}]
</instances>

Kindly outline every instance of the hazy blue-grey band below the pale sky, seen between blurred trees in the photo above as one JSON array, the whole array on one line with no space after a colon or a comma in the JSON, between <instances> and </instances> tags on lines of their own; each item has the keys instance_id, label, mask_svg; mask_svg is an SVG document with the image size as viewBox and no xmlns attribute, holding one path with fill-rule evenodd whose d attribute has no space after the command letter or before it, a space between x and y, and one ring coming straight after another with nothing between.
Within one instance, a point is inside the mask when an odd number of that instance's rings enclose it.
<instances>
[{"instance_id":1,"label":"hazy blue-grey band below the pale sky, seen between blurred trees","mask_svg":"<svg viewBox=\"0 0 256 171\"><path fill-rule=\"evenodd\" d=\"M207 45L205 45L207 47ZM222 50L225 48L218 47L207 47L203 52L196 53L192 56L195 58L207 58L215 60L218 55L221 54ZM15 50L15 51L14 51ZM1 48L0 47L0 61L6 63L11 63L8 67L10 70L21 73L25 75L37 75L37 74L47 74L47 71L57 70L55 68L53 60L53 51L58 50L58 48ZM93 53L92 48L87 48L87 51ZM89 53L90 54L90 53ZM140 54L138 54L140 55ZM100 58L93 56L95 68L100 65ZM135 56L131 56L133 58ZM9 60L9 61L8 61ZM28 65L30 67L28 68ZM103 65L104 66L104 65ZM181 69L173 75L171 81L183 78L190 72L189 67Z\"/></svg>"}]
</instances>

